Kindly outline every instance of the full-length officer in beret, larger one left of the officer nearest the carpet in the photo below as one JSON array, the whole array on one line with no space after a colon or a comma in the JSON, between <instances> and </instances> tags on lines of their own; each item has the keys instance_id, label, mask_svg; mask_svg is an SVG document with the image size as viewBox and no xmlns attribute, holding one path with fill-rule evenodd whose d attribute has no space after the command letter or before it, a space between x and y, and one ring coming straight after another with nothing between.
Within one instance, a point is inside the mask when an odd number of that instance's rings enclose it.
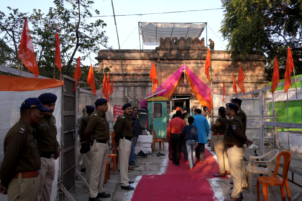
<instances>
[{"instance_id":1,"label":"full-length officer in beret, larger one left of the officer nearest the carpet","mask_svg":"<svg viewBox=\"0 0 302 201\"><path fill-rule=\"evenodd\" d=\"M90 145L92 167L89 179L89 201L111 197L103 190L106 163L108 159L109 123L106 118L108 101L97 99L96 111L92 112L85 129L86 145Z\"/></svg>"}]
</instances>

